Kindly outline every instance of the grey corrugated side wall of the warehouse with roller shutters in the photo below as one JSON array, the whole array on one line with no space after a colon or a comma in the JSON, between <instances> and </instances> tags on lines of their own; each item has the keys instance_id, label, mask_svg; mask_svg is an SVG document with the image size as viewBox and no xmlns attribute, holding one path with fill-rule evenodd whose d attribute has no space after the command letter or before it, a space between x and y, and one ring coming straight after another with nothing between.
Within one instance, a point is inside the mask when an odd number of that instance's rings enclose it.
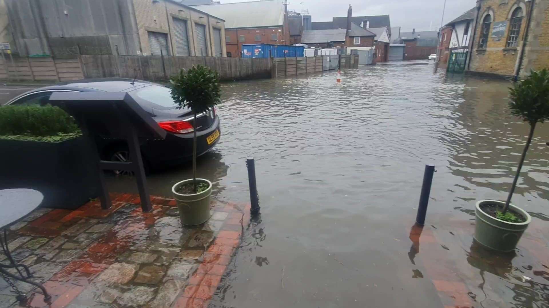
<instances>
[{"instance_id":1,"label":"grey corrugated side wall of the warehouse with roller shutters","mask_svg":"<svg viewBox=\"0 0 549 308\"><path fill-rule=\"evenodd\" d=\"M5 0L20 55L137 54L132 0ZM49 37L47 39L46 37ZM78 48L80 47L80 48ZM50 49L51 48L51 49Z\"/></svg>"}]
</instances>

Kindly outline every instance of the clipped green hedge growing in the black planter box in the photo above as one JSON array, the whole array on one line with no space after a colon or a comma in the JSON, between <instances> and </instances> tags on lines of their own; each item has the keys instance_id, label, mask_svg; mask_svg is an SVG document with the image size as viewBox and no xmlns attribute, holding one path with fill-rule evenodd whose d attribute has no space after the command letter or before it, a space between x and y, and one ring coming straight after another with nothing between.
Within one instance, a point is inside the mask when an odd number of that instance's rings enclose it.
<instances>
[{"instance_id":1,"label":"clipped green hedge growing in the black planter box","mask_svg":"<svg viewBox=\"0 0 549 308\"><path fill-rule=\"evenodd\" d=\"M0 138L59 142L80 134L74 118L59 107L0 107Z\"/></svg>"}]
</instances>

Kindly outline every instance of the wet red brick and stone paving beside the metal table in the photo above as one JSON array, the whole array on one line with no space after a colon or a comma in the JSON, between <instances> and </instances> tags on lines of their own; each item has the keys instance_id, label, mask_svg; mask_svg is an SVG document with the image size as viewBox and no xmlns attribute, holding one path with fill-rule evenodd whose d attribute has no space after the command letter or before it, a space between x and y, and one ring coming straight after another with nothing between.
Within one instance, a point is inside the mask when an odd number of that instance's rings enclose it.
<instances>
[{"instance_id":1,"label":"wet red brick and stone paving beside the metal table","mask_svg":"<svg viewBox=\"0 0 549 308\"><path fill-rule=\"evenodd\" d=\"M240 243L249 206L212 202L211 219L182 227L171 198L111 194L113 207L91 201L76 210L37 209L8 232L13 256L29 265L40 290L22 282L29 307L206 307ZM5 256L0 254L0 261ZM15 307L0 280L0 306Z\"/></svg>"}]
</instances>

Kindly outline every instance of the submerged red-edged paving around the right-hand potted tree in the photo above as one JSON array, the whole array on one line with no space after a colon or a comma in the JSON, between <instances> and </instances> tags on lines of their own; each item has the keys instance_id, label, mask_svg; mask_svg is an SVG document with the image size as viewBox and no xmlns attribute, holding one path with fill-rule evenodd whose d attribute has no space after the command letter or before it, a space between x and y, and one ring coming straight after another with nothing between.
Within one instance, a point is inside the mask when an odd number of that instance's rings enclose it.
<instances>
[{"instance_id":1,"label":"submerged red-edged paving around the right-hand potted tree","mask_svg":"<svg viewBox=\"0 0 549 308\"><path fill-rule=\"evenodd\" d=\"M445 308L547 303L549 286L535 282L549 281L546 221L532 221L516 252L496 253L473 241L473 219L430 215L429 220L437 225L407 229L412 242L408 256L424 270L412 278L430 279Z\"/></svg>"}]
</instances>

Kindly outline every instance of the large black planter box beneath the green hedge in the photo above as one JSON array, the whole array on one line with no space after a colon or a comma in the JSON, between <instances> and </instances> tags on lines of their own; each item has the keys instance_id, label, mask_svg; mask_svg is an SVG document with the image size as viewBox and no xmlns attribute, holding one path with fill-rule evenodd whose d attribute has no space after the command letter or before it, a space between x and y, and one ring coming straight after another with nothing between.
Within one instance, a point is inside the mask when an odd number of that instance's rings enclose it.
<instances>
[{"instance_id":1,"label":"large black planter box beneath the green hedge","mask_svg":"<svg viewBox=\"0 0 549 308\"><path fill-rule=\"evenodd\" d=\"M0 189L35 189L44 195L42 207L79 208L99 195L89 149L83 137L57 143L0 139Z\"/></svg>"}]
</instances>

